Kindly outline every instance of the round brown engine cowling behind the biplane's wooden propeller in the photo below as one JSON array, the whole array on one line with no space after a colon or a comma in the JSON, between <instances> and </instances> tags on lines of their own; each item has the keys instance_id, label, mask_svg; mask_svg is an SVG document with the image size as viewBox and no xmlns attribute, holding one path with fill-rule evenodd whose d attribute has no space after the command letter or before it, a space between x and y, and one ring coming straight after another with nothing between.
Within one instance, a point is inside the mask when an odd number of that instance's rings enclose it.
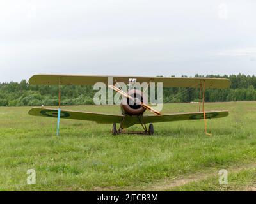
<instances>
[{"instance_id":1,"label":"round brown engine cowling behind the biplane's wooden propeller","mask_svg":"<svg viewBox=\"0 0 256 204\"><path fill-rule=\"evenodd\" d=\"M136 103L136 101L141 101L143 103L148 104L147 98L144 97L144 94L142 91L138 89L131 89L130 91L127 92L129 96L134 98L134 101L132 103L132 100L129 98L122 98L121 102L121 109L122 112L128 115L141 115L145 112L145 108L143 108L141 105Z\"/></svg>"}]
</instances>

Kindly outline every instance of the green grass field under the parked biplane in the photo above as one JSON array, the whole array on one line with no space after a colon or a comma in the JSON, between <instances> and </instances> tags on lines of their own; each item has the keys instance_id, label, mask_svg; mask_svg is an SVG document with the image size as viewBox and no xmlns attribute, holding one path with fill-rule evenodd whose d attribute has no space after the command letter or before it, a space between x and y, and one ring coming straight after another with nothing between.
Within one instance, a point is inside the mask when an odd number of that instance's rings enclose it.
<instances>
[{"instance_id":1,"label":"green grass field under the parked biplane","mask_svg":"<svg viewBox=\"0 0 256 204\"><path fill-rule=\"evenodd\" d=\"M191 112L196 104L166 104L164 113ZM111 126L32 117L29 108L0 108L2 191L222 191L256 185L256 102L207 103L230 110L223 119L154 124L154 136L112 136ZM119 106L70 110L119 113ZM132 129L140 129L140 126ZM27 170L36 171L28 185ZM218 171L228 170L228 185Z\"/></svg>"}]
</instances>

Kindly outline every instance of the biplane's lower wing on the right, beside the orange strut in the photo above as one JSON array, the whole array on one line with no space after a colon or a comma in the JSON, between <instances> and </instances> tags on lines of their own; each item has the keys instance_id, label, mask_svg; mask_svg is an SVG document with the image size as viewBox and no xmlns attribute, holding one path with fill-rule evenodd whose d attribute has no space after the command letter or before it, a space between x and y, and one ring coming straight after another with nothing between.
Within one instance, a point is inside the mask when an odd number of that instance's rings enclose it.
<instances>
[{"instance_id":1,"label":"biplane's lower wing on the right, beside the orange strut","mask_svg":"<svg viewBox=\"0 0 256 204\"><path fill-rule=\"evenodd\" d=\"M205 112L206 119L215 119L220 117L228 116L228 111L207 111ZM171 122L171 121L180 121L180 120L202 120L204 119L204 113L195 112L195 113L172 113L168 115L145 115L145 123L154 123L154 122Z\"/></svg>"}]
</instances>

